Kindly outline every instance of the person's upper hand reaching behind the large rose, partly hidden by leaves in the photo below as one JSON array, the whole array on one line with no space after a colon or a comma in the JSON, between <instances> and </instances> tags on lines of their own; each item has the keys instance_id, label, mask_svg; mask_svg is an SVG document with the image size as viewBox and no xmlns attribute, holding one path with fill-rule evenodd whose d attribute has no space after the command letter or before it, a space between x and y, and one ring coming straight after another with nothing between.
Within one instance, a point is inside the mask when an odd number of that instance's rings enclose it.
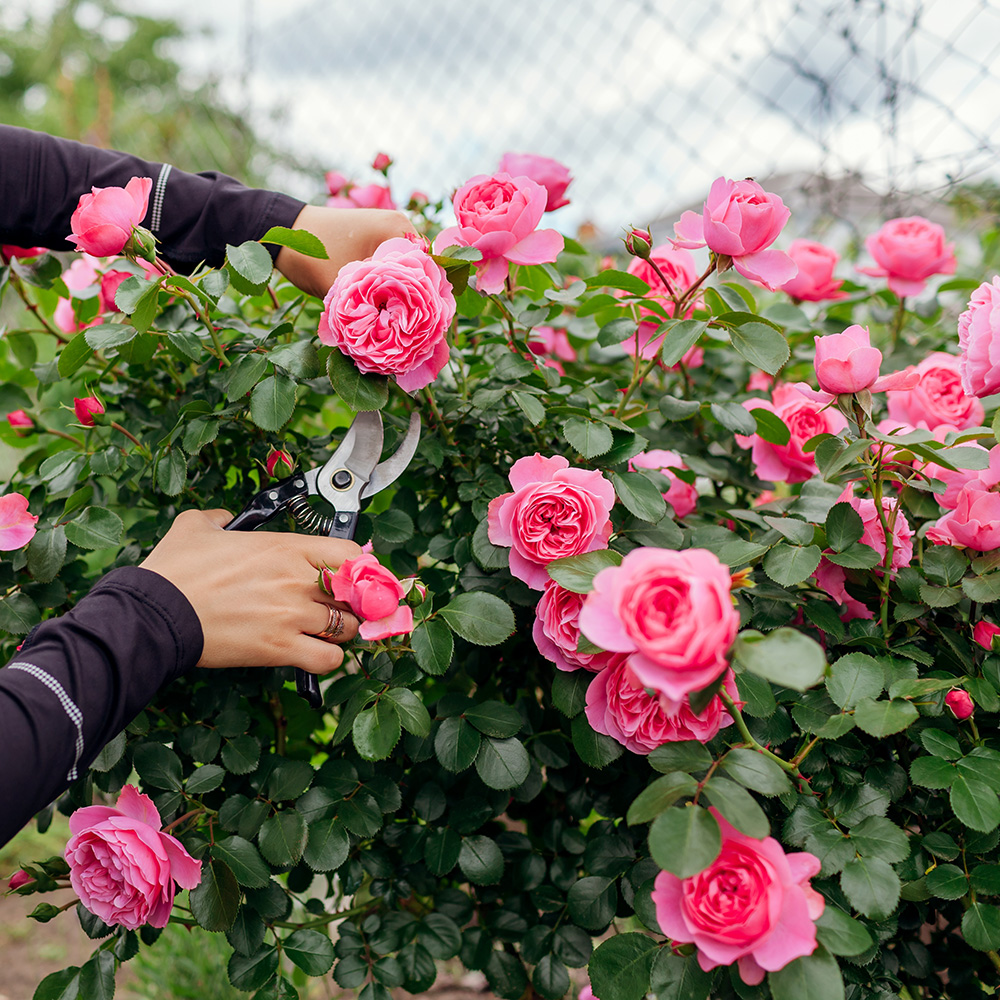
<instances>
[{"instance_id":1,"label":"person's upper hand reaching behind the large rose, partly hidden by leaves","mask_svg":"<svg viewBox=\"0 0 1000 1000\"><path fill-rule=\"evenodd\" d=\"M293 229L305 229L318 236L330 255L329 260L306 257L288 247L278 252L275 267L302 291L323 298L337 272L348 261L370 257L380 243L394 236L415 233L402 212L384 208L323 208L306 205Z\"/></svg>"}]
</instances>

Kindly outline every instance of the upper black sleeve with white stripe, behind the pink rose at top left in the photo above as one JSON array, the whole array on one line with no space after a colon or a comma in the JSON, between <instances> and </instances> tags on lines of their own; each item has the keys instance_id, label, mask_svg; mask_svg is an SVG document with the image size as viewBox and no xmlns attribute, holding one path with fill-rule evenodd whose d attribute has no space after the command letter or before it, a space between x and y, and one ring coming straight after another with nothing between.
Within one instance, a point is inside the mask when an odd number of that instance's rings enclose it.
<instances>
[{"instance_id":1,"label":"upper black sleeve with white stripe, behind the pink rose at top left","mask_svg":"<svg viewBox=\"0 0 1000 1000\"><path fill-rule=\"evenodd\" d=\"M202 261L218 267L227 243L260 239L271 226L291 226L304 205L214 171L187 174L170 164L0 125L0 243L74 250L66 237L80 196L92 187L124 187L132 177L152 179L143 225L179 271ZM279 248L268 250L273 258Z\"/></svg>"}]
</instances>

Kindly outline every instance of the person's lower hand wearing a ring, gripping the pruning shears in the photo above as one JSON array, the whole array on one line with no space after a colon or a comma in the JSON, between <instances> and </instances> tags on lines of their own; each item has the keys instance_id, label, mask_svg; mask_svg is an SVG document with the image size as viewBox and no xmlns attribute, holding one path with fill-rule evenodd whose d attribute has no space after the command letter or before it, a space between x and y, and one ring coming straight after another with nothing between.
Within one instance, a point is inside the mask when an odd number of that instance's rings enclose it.
<instances>
[{"instance_id":1,"label":"person's lower hand wearing a ring, gripping the pruning shears","mask_svg":"<svg viewBox=\"0 0 1000 1000\"><path fill-rule=\"evenodd\" d=\"M343 610L337 642L358 633L347 606L320 590L323 565L337 568L361 549L354 542L290 532L223 531L225 510L188 510L146 559L198 615L205 645L199 667L301 667L325 674L344 662L336 643L316 638Z\"/></svg>"}]
</instances>

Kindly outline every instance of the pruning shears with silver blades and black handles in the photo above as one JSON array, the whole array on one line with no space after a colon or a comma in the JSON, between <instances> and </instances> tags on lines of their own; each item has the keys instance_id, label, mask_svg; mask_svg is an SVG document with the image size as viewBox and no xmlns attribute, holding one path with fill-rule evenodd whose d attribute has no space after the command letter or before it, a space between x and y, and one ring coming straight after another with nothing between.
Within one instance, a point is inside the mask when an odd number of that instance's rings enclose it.
<instances>
[{"instance_id":1,"label":"pruning shears with silver blades and black handles","mask_svg":"<svg viewBox=\"0 0 1000 1000\"><path fill-rule=\"evenodd\" d=\"M261 490L226 525L226 531L253 531L287 511L296 524L314 535L353 538L361 501L394 483L410 464L420 441L419 414L411 415L402 442L384 462L379 461L382 438L382 414L378 410L359 413L323 465ZM325 500L333 513L318 511L309 503L311 496ZM320 707L322 696L315 674L296 669L295 686L313 708Z\"/></svg>"}]
</instances>

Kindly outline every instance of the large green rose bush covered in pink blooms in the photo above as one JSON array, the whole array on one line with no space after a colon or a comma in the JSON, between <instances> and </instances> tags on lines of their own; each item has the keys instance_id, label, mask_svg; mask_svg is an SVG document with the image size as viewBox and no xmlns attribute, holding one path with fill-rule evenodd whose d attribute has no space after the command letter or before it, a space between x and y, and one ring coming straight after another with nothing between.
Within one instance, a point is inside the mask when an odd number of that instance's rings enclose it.
<instances>
[{"instance_id":1,"label":"large green rose bush covered in pink blooms","mask_svg":"<svg viewBox=\"0 0 1000 1000\"><path fill-rule=\"evenodd\" d=\"M538 228L549 196L481 175L457 226L413 199L434 252L383 245L326 303L255 243L77 288L81 258L3 251L8 656L179 509L238 510L358 410L387 451L423 423L325 577L371 630L322 710L288 671L179 679L54 804L67 859L2 873L38 920L75 885L95 942L39 1000L110 996L163 920L224 934L257 1000L425 993L441 961L507 1000L1000 985L991 275L938 279L925 229L906 270L896 227L837 288L724 180L699 246L612 260Z\"/></svg>"}]
</instances>

